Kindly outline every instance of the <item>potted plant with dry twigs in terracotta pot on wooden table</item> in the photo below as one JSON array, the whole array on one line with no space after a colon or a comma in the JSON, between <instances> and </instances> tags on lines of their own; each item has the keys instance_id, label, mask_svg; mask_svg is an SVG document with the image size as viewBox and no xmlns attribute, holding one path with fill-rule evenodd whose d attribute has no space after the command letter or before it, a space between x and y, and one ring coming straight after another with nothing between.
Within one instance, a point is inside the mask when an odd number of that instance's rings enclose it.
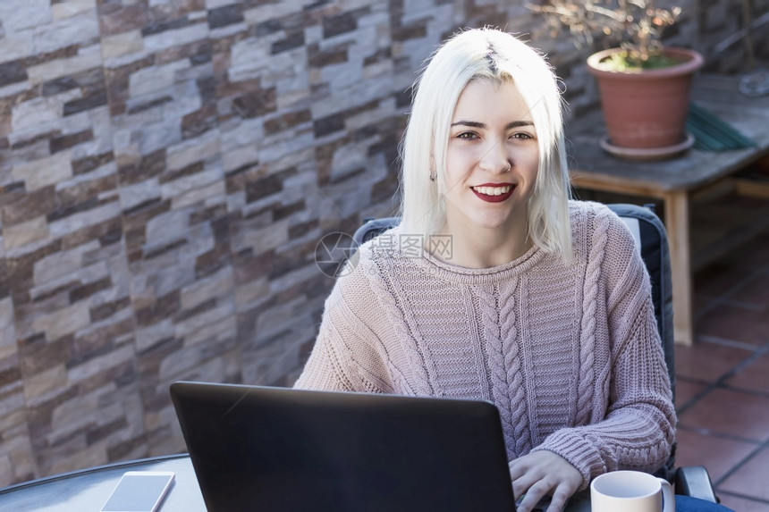
<instances>
[{"instance_id":1,"label":"potted plant with dry twigs in terracotta pot on wooden table","mask_svg":"<svg viewBox=\"0 0 769 512\"><path fill-rule=\"evenodd\" d=\"M550 0L529 8L543 13L551 28L568 28L578 46L601 39L608 47L587 58L608 131L604 149L654 159L691 147L689 91L704 59L660 41L663 29L678 20L679 7L657 8L653 0Z\"/></svg>"}]
</instances>

